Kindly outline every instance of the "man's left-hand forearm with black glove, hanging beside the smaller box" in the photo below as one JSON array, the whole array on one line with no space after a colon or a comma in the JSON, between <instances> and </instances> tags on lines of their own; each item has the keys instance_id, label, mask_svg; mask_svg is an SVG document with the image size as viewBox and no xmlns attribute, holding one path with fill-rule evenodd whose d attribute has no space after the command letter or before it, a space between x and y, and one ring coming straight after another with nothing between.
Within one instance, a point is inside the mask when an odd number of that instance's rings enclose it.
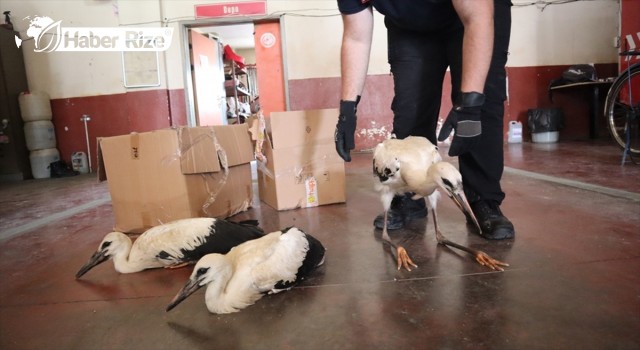
<instances>
[{"instance_id":1,"label":"man's left-hand forearm with black glove, hanging beside the smaller box","mask_svg":"<svg viewBox=\"0 0 640 350\"><path fill-rule=\"evenodd\" d=\"M341 82L340 116L335 131L336 151L345 161L351 161L355 148L356 110L369 67L373 35L373 10L342 15L343 34L340 53Z\"/></svg>"}]
</instances>

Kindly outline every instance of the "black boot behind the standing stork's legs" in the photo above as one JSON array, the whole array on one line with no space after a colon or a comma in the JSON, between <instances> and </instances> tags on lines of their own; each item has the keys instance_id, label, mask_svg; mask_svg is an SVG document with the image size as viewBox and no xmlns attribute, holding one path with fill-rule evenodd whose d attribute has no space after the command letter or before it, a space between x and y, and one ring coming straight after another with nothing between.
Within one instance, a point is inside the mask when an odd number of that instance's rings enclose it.
<instances>
[{"instance_id":1,"label":"black boot behind the standing stork's legs","mask_svg":"<svg viewBox=\"0 0 640 350\"><path fill-rule=\"evenodd\" d=\"M405 223L413 219L424 218L427 216L427 206L424 198L413 200L413 193L405 193L402 196L395 196L391 201L391 208L387 213L387 229L397 230L404 227ZM384 213L376 216L373 220L376 228L384 227Z\"/></svg>"}]
</instances>

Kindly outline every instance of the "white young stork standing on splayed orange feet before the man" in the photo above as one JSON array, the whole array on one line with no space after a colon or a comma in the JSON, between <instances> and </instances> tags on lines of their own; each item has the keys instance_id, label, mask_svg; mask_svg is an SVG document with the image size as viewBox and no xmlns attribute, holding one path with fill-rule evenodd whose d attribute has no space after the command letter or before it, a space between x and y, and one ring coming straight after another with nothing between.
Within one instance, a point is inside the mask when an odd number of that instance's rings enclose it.
<instances>
[{"instance_id":1,"label":"white young stork standing on splayed orange feet before the man","mask_svg":"<svg viewBox=\"0 0 640 350\"><path fill-rule=\"evenodd\" d=\"M398 270L404 267L411 271L417 265L411 260L406 249L391 241L387 232L387 214L393 196L406 192L415 193L413 199L425 197L431 209L436 240L439 244L455 247L473 255L478 263L493 270L503 271L508 264L491 258L486 253L471 249L446 239L438 228L436 205L440 198L438 188L444 190L462 212L473 219L478 230L480 225L471 210L462 189L462 175L450 163L443 162L438 149L428 139L409 136L405 139L390 138L378 144L373 153L373 172L379 181L375 188L380 192L384 207L384 228L382 239L391 245Z\"/></svg>"}]
</instances>

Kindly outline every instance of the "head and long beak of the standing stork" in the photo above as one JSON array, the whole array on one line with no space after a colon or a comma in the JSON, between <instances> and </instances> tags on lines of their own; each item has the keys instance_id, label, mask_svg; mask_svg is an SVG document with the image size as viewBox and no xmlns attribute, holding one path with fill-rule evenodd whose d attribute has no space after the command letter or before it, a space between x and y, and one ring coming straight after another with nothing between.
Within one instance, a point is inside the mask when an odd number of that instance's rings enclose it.
<instances>
[{"instance_id":1,"label":"head and long beak of the standing stork","mask_svg":"<svg viewBox=\"0 0 640 350\"><path fill-rule=\"evenodd\" d=\"M438 184L438 187L445 191L447 196L453 200L462 213L471 218L478 230L482 232L478 220L475 215L473 215L469 201L467 201L467 197L464 195L462 175L458 169L451 163L438 162L429 167L427 175Z\"/></svg>"}]
</instances>

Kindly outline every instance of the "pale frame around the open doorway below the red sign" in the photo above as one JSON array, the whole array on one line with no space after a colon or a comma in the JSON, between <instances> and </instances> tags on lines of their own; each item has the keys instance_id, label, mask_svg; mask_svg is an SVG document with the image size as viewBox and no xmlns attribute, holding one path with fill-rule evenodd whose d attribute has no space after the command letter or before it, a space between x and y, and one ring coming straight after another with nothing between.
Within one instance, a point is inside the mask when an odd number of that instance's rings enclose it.
<instances>
[{"instance_id":1,"label":"pale frame around the open doorway below the red sign","mask_svg":"<svg viewBox=\"0 0 640 350\"><path fill-rule=\"evenodd\" d=\"M195 112L195 98L194 98L194 86L193 77L191 76L191 60L189 50L189 29L198 27L210 27L210 26L225 26L236 25L245 23L264 23L264 22L278 22L280 26L280 49L282 50L282 74L284 82L284 99L285 108L289 110L289 79L287 76L287 56L285 46L285 31L284 31L284 16L267 16L267 17L243 17L243 18L213 18L213 19L200 19L181 21L180 26L180 42L182 44L182 75L184 79L184 100L187 109L187 126L196 126L196 112ZM257 62L256 62L257 63ZM258 72L260 74L260 72Z\"/></svg>"}]
</instances>

